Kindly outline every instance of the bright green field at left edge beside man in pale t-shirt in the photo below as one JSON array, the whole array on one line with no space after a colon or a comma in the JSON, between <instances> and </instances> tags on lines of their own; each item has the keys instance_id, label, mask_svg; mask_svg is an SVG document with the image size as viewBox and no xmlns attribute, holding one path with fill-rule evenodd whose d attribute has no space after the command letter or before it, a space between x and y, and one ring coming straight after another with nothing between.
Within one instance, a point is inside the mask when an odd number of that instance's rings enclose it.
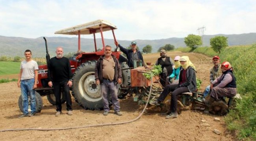
<instances>
[{"instance_id":1,"label":"bright green field at left edge beside man in pale t-shirt","mask_svg":"<svg viewBox=\"0 0 256 141\"><path fill-rule=\"evenodd\" d=\"M20 62L0 61L0 75L18 74Z\"/></svg>"}]
</instances>

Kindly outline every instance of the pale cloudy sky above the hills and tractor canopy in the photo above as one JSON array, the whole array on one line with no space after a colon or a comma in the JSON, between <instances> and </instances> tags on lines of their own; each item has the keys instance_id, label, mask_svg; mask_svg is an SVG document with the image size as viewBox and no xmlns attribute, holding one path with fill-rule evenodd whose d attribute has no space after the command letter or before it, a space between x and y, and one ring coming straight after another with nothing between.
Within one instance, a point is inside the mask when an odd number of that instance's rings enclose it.
<instances>
[{"instance_id":1,"label":"pale cloudy sky above the hills and tractor canopy","mask_svg":"<svg viewBox=\"0 0 256 141\"><path fill-rule=\"evenodd\" d=\"M184 38L200 27L243 34L256 32L255 16L256 0L0 0L0 36L75 37L54 32L98 19L117 26L117 40Z\"/></svg>"}]
</instances>

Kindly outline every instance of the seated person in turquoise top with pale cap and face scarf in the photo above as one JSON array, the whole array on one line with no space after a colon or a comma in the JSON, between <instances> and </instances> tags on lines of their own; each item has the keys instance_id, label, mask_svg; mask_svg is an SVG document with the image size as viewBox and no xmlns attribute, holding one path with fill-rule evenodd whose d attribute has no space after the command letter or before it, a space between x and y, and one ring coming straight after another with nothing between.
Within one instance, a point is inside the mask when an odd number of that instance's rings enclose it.
<instances>
[{"instance_id":1,"label":"seated person in turquoise top with pale cap and face scarf","mask_svg":"<svg viewBox=\"0 0 256 141\"><path fill-rule=\"evenodd\" d=\"M180 56L176 56L174 58L173 73L169 77L166 78L165 82L167 82L167 83L165 84L165 86L169 85L170 83L171 84L179 83L179 74L180 74L180 69L182 68L179 60L180 60Z\"/></svg>"}]
</instances>

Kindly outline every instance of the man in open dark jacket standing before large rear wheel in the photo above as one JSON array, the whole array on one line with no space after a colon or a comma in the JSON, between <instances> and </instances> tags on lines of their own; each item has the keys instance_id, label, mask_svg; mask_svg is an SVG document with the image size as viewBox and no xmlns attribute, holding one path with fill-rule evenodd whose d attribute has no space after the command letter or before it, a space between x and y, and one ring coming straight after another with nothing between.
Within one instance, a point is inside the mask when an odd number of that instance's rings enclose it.
<instances>
[{"instance_id":1,"label":"man in open dark jacket standing before large rear wheel","mask_svg":"<svg viewBox=\"0 0 256 141\"><path fill-rule=\"evenodd\" d=\"M118 84L122 83L122 71L119 61L115 56L111 55L112 47L106 45L104 55L100 56L95 67L96 84L100 84L103 99L104 113L109 113L108 94L111 94L113 107L116 115L122 116L120 112L119 99L117 98Z\"/></svg>"}]
</instances>

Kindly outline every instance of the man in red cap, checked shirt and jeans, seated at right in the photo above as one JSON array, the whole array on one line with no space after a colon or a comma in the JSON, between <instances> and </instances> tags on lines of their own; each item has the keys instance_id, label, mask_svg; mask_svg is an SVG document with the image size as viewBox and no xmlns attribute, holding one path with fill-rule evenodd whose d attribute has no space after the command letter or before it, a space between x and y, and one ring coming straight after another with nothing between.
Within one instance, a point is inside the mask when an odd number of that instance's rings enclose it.
<instances>
[{"instance_id":1,"label":"man in red cap, checked shirt and jeans, seated at right","mask_svg":"<svg viewBox=\"0 0 256 141\"><path fill-rule=\"evenodd\" d=\"M210 69L210 83L212 83L216 78L218 78L222 74L219 56L214 56L212 58L212 63L214 64L214 66ZM204 98L209 94L209 92L210 85L208 85L204 90Z\"/></svg>"}]
</instances>

